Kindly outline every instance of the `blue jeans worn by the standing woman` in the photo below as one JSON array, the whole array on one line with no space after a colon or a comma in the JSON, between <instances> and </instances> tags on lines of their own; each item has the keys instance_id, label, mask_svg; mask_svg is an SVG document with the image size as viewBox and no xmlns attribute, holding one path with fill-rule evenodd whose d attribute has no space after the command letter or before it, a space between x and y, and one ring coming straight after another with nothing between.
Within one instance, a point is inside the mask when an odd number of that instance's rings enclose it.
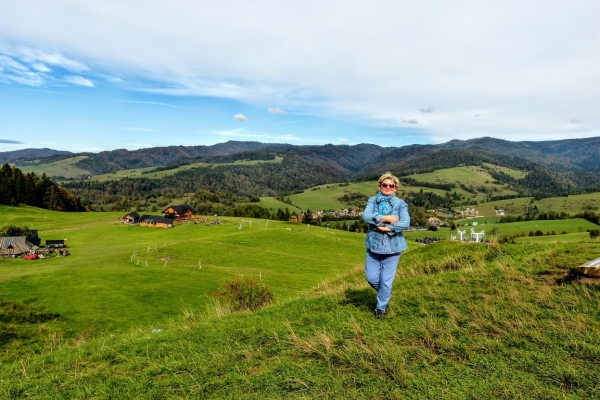
<instances>
[{"instance_id":1,"label":"blue jeans worn by the standing woman","mask_svg":"<svg viewBox=\"0 0 600 400\"><path fill-rule=\"evenodd\" d=\"M390 298L392 297L392 283L396 276L396 269L398 268L398 261L400 261L401 254L377 254L367 250L365 275L369 285L377 290L376 309L385 311L390 302Z\"/></svg>"}]
</instances>

